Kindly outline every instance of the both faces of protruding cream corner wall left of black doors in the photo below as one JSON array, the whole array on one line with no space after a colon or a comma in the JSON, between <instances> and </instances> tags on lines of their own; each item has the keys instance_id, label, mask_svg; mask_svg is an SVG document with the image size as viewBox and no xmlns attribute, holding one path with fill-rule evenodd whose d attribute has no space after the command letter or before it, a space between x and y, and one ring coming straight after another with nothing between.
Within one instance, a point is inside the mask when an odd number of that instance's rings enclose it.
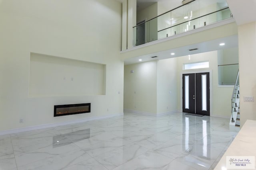
<instances>
[{"instance_id":1,"label":"both faces of protruding cream corner wall left of black doors","mask_svg":"<svg viewBox=\"0 0 256 170\"><path fill-rule=\"evenodd\" d=\"M174 58L124 66L124 109L153 114L176 111L176 65Z\"/></svg>"}]
</instances>

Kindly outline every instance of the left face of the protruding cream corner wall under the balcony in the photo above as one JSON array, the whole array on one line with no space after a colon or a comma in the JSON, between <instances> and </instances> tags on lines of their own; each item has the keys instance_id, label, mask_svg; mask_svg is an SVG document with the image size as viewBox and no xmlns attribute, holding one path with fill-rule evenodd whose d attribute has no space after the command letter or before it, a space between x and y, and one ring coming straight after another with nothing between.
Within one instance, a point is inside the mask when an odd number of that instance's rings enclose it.
<instances>
[{"instance_id":1,"label":"left face of the protruding cream corner wall under the balcony","mask_svg":"<svg viewBox=\"0 0 256 170\"><path fill-rule=\"evenodd\" d=\"M157 61L124 66L124 109L156 114Z\"/></svg>"}]
</instances>

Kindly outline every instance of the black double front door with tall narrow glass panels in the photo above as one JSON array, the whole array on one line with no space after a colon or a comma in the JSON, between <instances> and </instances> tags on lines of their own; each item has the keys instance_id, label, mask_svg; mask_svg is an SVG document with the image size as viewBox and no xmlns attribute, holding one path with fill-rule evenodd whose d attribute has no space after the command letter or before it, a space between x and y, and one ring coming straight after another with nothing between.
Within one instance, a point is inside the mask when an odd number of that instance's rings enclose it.
<instances>
[{"instance_id":1,"label":"black double front door with tall narrow glass panels","mask_svg":"<svg viewBox=\"0 0 256 170\"><path fill-rule=\"evenodd\" d=\"M210 115L209 72L182 74L182 111Z\"/></svg>"}]
</instances>

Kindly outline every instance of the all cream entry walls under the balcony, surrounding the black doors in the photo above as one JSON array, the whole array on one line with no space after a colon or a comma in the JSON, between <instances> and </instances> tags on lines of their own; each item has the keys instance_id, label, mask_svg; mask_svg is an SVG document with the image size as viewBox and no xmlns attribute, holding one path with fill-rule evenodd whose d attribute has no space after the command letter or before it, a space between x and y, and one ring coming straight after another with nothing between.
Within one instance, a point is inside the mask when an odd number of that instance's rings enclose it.
<instances>
[{"instance_id":1,"label":"all cream entry walls under the balcony, surrounding the black doors","mask_svg":"<svg viewBox=\"0 0 256 170\"><path fill-rule=\"evenodd\" d=\"M200 61L209 61L209 68L183 70L184 63ZM230 117L230 98L234 87L218 86L218 51L190 55L190 60L188 56L183 56L124 66L124 109L156 114L182 111L182 74L210 70L210 114Z\"/></svg>"}]
</instances>

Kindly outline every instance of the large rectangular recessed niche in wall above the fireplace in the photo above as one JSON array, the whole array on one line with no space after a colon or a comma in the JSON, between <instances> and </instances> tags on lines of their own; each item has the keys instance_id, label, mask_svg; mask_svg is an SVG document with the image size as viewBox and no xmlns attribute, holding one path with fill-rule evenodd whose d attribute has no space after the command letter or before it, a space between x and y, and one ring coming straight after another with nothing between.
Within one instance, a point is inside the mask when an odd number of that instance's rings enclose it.
<instances>
[{"instance_id":1,"label":"large rectangular recessed niche in wall above the fireplace","mask_svg":"<svg viewBox=\"0 0 256 170\"><path fill-rule=\"evenodd\" d=\"M106 94L106 65L30 53L29 96Z\"/></svg>"}]
</instances>

